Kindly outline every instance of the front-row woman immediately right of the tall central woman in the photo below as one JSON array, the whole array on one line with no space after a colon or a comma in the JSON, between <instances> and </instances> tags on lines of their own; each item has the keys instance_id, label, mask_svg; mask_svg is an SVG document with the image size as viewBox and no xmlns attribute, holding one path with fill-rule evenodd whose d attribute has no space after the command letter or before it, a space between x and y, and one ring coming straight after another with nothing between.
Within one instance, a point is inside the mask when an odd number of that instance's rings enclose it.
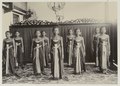
<instances>
[{"instance_id":1,"label":"front-row woman immediately right of the tall central woman","mask_svg":"<svg viewBox=\"0 0 120 86\"><path fill-rule=\"evenodd\" d=\"M84 38L81 36L80 29L76 29L76 37L74 40L74 73L81 74L85 71L85 44Z\"/></svg>"}]
</instances>

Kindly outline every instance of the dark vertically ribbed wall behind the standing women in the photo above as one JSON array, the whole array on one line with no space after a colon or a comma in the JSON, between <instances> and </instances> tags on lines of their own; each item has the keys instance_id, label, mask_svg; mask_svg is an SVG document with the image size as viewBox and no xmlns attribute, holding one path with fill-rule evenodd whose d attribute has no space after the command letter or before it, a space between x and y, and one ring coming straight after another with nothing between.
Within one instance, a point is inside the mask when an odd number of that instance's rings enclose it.
<instances>
[{"instance_id":1,"label":"dark vertically ribbed wall behind the standing women","mask_svg":"<svg viewBox=\"0 0 120 86\"><path fill-rule=\"evenodd\" d=\"M47 36L50 38L52 36L52 29L56 25L18 25L10 26L10 31L14 34L16 31L21 33L21 36L24 40L24 63L32 62L30 58L31 52L31 41L34 37L35 30L44 30L47 33ZM67 61L66 57L66 35L68 34L68 29L75 30L80 28L82 36L84 37L85 47L86 47L86 62L95 62L95 58L92 55L92 37L95 32L96 27L105 26L107 28L107 34L110 36L110 45L111 45L111 56L110 61L117 63L117 25L112 25L109 23L93 23L93 24L60 24L60 35L63 37L64 41L64 53L65 53L65 62Z\"/></svg>"}]
</instances>

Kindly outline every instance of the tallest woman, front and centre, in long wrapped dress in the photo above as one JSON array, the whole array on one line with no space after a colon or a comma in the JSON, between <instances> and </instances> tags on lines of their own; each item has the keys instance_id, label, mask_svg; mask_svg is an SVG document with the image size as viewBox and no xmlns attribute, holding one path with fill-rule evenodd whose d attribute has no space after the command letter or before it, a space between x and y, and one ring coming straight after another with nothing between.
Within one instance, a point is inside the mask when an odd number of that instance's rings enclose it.
<instances>
[{"instance_id":1,"label":"tallest woman, front and centre, in long wrapped dress","mask_svg":"<svg viewBox=\"0 0 120 86\"><path fill-rule=\"evenodd\" d=\"M51 72L53 79L62 79L63 59L63 38L59 35L59 28L55 27L51 38Z\"/></svg>"}]
</instances>

